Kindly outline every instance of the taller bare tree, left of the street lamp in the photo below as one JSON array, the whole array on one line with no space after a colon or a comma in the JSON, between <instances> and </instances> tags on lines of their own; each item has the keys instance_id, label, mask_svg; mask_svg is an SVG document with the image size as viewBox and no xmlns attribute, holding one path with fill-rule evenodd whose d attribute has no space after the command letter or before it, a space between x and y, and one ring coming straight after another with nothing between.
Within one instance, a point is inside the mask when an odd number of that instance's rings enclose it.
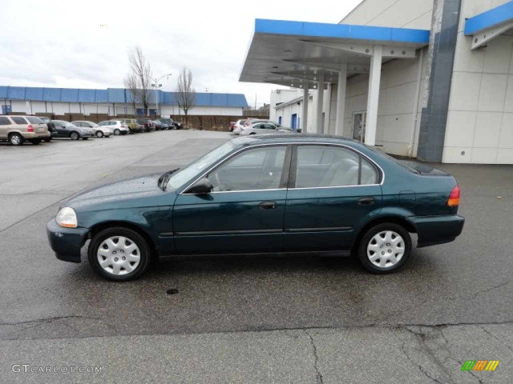
<instances>
[{"instance_id":1,"label":"taller bare tree, left of the street lamp","mask_svg":"<svg viewBox=\"0 0 513 384\"><path fill-rule=\"evenodd\" d=\"M151 67L143 54L141 47L137 46L128 52L130 74L127 76L132 82L134 103L140 102L149 115L148 104L150 102ZM125 84L126 86L126 84Z\"/></svg>"}]
</instances>

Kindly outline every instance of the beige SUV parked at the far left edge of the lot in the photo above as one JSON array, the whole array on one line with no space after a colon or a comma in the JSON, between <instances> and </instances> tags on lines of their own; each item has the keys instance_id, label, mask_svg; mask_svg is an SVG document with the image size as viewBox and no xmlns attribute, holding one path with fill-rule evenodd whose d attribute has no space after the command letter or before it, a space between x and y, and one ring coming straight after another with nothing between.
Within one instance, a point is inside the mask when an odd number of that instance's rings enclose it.
<instances>
[{"instance_id":1,"label":"beige SUV parked at the far left edge of the lot","mask_svg":"<svg viewBox=\"0 0 513 384\"><path fill-rule=\"evenodd\" d=\"M48 137L48 126L38 117L0 115L0 140L9 140L12 145L22 145L25 141L39 144Z\"/></svg>"}]
</instances>

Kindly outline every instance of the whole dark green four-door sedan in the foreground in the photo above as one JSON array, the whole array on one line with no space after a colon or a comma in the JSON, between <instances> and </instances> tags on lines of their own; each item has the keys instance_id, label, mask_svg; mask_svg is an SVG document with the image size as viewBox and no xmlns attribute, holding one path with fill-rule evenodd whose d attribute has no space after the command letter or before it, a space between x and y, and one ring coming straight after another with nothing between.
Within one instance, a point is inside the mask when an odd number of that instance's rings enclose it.
<instances>
[{"instance_id":1,"label":"whole dark green four-door sedan in the foreground","mask_svg":"<svg viewBox=\"0 0 513 384\"><path fill-rule=\"evenodd\" d=\"M340 137L239 137L181 169L84 191L47 225L57 259L131 280L164 255L340 251L371 272L418 247L451 242L465 219L460 188Z\"/></svg>"}]
</instances>

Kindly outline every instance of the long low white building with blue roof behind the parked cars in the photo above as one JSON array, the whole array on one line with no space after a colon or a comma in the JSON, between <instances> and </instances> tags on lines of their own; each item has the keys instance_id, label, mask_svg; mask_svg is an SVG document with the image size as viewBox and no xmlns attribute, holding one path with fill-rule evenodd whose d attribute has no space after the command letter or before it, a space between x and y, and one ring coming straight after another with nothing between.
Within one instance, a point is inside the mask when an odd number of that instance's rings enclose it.
<instances>
[{"instance_id":1,"label":"long low white building with blue roof behind the parked cars","mask_svg":"<svg viewBox=\"0 0 513 384\"><path fill-rule=\"evenodd\" d=\"M22 113L45 116L180 116L183 111L175 92L150 90L149 110L131 101L123 88L77 89L40 87L0 87L2 114ZM158 101L158 102L155 102ZM242 116L248 108L246 96L229 93L195 93L189 115ZM157 113L158 110L158 113Z\"/></svg>"}]
</instances>

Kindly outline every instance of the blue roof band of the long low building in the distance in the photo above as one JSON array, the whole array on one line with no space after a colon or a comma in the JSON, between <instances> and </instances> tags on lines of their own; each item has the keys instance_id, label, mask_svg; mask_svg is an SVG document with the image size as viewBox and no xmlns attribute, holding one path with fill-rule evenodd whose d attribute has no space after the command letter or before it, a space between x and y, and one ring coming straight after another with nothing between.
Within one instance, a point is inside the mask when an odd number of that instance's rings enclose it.
<instances>
[{"instance_id":1,"label":"blue roof band of the long low building in the distance","mask_svg":"<svg viewBox=\"0 0 513 384\"><path fill-rule=\"evenodd\" d=\"M150 90L150 103L154 103L154 90ZM159 104L177 105L175 92L158 91ZM63 101L82 103L130 103L131 93L124 88L78 89L0 86L0 98L10 100ZM243 94L196 93L198 106L247 107Z\"/></svg>"}]
</instances>

